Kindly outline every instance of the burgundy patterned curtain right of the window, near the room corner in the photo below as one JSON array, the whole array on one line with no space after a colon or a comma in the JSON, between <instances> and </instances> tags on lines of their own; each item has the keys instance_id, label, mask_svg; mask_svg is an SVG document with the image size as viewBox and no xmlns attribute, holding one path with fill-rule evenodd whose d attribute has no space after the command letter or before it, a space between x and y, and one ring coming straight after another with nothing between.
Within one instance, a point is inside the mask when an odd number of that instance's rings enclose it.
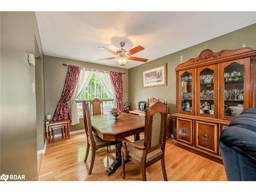
<instances>
[{"instance_id":1,"label":"burgundy patterned curtain right of the window, near the room corner","mask_svg":"<svg viewBox=\"0 0 256 192\"><path fill-rule=\"evenodd\" d=\"M116 92L117 107L123 111L123 78L122 73L110 72L111 82Z\"/></svg>"}]
</instances>

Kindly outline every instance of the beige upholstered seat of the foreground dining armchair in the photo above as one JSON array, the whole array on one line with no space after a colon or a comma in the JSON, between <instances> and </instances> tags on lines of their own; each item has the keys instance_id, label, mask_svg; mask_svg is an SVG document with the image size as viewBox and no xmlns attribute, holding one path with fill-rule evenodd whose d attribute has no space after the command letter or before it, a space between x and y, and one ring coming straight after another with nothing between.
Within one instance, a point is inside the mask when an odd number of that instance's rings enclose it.
<instances>
[{"instance_id":1,"label":"beige upholstered seat of the foreground dining armchair","mask_svg":"<svg viewBox=\"0 0 256 192\"><path fill-rule=\"evenodd\" d=\"M134 141L133 142L136 145L140 145L140 146L144 146L144 139L138 140L138 141ZM122 151L124 152L124 147L122 147ZM138 150L137 148L135 148L132 145L127 144L127 151L126 151L127 155L129 155L130 157L136 159L137 161L141 162L142 159L142 155L143 155L143 150ZM155 159L156 157L162 155L163 152L162 150L159 148L149 154L147 154L146 156L146 163L150 162L151 160Z\"/></svg>"}]
</instances>

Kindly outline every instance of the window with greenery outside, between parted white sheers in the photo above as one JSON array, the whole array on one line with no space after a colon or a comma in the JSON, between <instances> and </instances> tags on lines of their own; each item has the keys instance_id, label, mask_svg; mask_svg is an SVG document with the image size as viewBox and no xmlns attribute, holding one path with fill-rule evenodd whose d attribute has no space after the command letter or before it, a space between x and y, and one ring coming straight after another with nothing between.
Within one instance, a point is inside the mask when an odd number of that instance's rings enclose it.
<instances>
[{"instance_id":1,"label":"window with greenery outside, between parted white sheers","mask_svg":"<svg viewBox=\"0 0 256 192\"><path fill-rule=\"evenodd\" d=\"M90 99L102 99L103 100L103 113L110 113L113 106L114 98L111 98L109 93L105 90L102 83L99 81L98 75L93 74L88 86L84 91L76 98L76 106L78 110L78 115L80 118L83 117L82 114L82 101L89 101Z\"/></svg>"}]
</instances>

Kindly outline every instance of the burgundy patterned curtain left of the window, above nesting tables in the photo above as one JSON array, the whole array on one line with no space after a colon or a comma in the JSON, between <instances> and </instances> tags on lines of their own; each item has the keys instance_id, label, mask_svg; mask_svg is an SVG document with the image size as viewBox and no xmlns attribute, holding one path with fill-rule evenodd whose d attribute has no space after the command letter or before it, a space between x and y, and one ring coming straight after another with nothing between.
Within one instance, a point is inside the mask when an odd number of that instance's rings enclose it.
<instances>
[{"instance_id":1,"label":"burgundy patterned curtain left of the window, above nesting tables","mask_svg":"<svg viewBox=\"0 0 256 192\"><path fill-rule=\"evenodd\" d=\"M70 100L74 93L79 73L80 67L69 66L65 86L54 112L53 120L71 119L70 109L67 101Z\"/></svg>"}]
</instances>

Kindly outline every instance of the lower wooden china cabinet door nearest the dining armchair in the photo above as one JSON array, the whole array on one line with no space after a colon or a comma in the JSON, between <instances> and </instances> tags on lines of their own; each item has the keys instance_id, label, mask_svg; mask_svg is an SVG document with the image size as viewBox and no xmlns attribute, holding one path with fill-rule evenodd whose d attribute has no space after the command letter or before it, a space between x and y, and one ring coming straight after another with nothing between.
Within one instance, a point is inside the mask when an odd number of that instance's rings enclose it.
<instances>
[{"instance_id":1,"label":"lower wooden china cabinet door nearest the dining armchair","mask_svg":"<svg viewBox=\"0 0 256 192\"><path fill-rule=\"evenodd\" d=\"M193 120L191 119L176 119L176 139L183 143L193 145Z\"/></svg>"}]
</instances>

